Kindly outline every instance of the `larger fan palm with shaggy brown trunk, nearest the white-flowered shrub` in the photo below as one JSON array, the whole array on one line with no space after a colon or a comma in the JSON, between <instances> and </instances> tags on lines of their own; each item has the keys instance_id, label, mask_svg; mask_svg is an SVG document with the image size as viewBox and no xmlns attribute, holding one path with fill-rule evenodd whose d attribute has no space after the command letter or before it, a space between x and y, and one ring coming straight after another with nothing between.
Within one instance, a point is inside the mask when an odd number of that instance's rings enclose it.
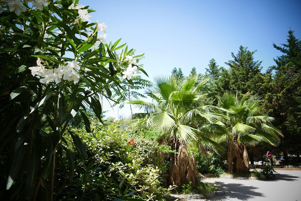
<instances>
[{"instance_id":1,"label":"larger fan palm with shaggy brown trunk, nearest the white-flowered shrub","mask_svg":"<svg viewBox=\"0 0 301 201\"><path fill-rule=\"evenodd\" d=\"M201 150L206 148L216 152L223 151L221 145L208 137L214 130L217 130L216 135L220 136L225 136L224 133L228 132L224 126L215 124L222 118L209 112L213 106L202 104L206 94L201 89L208 80L198 80L197 75L185 79L175 76L155 77L154 86L146 91L153 102L142 100L130 102L145 111L133 115L136 119L131 124L135 130L161 130L165 139L161 140L161 143L165 142L176 151L171 155L162 156L171 162L169 168L171 184L179 186L189 181L195 182L194 155L187 152L187 146L192 140L199 143Z\"/></svg>"}]
</instances>

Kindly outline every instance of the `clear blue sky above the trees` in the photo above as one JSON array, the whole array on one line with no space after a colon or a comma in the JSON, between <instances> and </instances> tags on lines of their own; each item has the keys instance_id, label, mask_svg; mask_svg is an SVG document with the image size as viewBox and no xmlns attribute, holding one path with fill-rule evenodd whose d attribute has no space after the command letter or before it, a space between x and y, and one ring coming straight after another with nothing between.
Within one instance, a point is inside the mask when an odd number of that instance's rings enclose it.
<instances>
[{"instance_id":1,"label":"clear blue sky above the trees","mask_svg":"<svg viewBox=\"0 0 301 201\"><path fill-rule=\"evenodd\" d=\"M92 21L107 24L107 41L122 38L137 54L149 80L182 68L205 73L209 60L227 67L231 52L240 45L257 50L263 71L281 55L272 43L284 43L289 27L301 38L301 1L79 1L96 10ZM104 103L107 116L117 109ZM119 114L130 115L129 107Z\"/></svg>"}]
</instances>

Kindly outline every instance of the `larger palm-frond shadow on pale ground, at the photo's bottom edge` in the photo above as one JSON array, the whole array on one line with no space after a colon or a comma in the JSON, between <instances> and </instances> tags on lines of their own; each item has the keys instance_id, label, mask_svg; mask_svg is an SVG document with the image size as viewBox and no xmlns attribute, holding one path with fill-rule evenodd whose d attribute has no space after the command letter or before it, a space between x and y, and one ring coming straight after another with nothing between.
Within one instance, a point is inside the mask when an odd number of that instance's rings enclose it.
<instances>
[{"instance_id":1,"label":"larger palm-frond shadow on pale ground, at the photo's bottom edge","mask_svg":"<svg viewBox=\"0 0 301 201\"><path fill-rule=\"evenodd\" d=\"M215 182L216 187L220 190L225 191L225 198L215 197L214 200L229 200L231 198L237 198L239 200L248 200L254 198L255 196L264 197L264 194L256 192L257 187L254 186L244 186L242 184L225 184L224 182Z\"/></svg>"}]
</instances>

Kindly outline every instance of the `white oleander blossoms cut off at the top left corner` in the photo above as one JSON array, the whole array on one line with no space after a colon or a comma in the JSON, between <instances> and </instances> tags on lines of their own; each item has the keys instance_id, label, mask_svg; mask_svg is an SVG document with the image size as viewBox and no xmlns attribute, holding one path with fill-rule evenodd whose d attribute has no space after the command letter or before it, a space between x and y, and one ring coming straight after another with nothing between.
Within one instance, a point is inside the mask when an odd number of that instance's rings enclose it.
<instances>
[{"instance_id":1,"label":"white oleander blossoms cut off at the top left corner","mask_svg":"<svg viewBox=\"0 0 301 201\"><path fill-rule=\"evenodd\" d=\"M26 11L26 6L23 5L23 3L20 0L2 0L2 2L5 2L10 12L15 12L16 15L21 14L22 11ZM43 10L44 6L48 5L48 2L46 0L33 0L32 1L33 7L36 7L39 10ZM3 8L0 6L0 13L3 12Z\"/></svg>"}]
</instances>

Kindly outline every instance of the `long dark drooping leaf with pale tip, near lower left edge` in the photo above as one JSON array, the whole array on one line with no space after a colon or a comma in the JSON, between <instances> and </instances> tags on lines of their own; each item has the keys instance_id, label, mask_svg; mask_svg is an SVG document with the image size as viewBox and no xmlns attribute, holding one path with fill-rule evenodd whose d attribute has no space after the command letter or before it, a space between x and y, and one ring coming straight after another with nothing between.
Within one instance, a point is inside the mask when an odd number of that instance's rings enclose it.
<instances>
[{"instance_id":1,"label":"long dark drooping leaf with pale tip, near lower left edge","mask_svg":"<svg viewBox=\"0 0 301 201\"><path fill-rule=\"evenodd\" d=\"M26 152L26 147L28 143L24 143L16 152L14 155L13 162L11 164L11 170L9 171L8 180L6 183L6 190L11 188L11 185L13 184L15 178L17 177L17 174L19 173L20 167L22 165L23 157Z\"/></svg>"}]
</instances>

